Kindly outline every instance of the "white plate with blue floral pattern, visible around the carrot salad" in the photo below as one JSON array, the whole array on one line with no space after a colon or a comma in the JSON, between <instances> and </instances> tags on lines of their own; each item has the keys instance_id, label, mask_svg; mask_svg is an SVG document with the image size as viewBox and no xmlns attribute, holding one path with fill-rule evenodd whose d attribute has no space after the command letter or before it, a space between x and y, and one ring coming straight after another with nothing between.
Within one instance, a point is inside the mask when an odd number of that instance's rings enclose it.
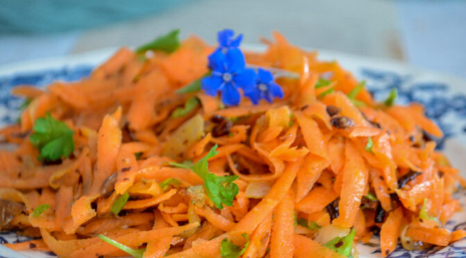
<instances>
[{"instance_id":1,"label":"white plate with blue floral pattern, visible around the carrot salad","mask_svg":"<svg viewBox=\"0 0 466 258\"><path fill-rule=\"evenodd\" d=\"M264 46L245 45L244 49L263 51ZM71 55L22 62L0 67L0 127L14 123L18 117L17 107L21 99L10 96L15 85L28 84L43 87L53 80L72 81L87 76L98 63L108 58L115 49L103 49ZM411 67L402 62L366 58L335 51L319 51L321 60L338 60L345 69L366 85L376 99L383 99L392 87L398 90L397 103L419 102L426 107L426 115L433 119L445 133L438 140L441 148L458 169L466 168L466 80L433 71ZM465 173L462 171L462 174ZM466 207L466 192L455 193ZM466 227L466 211L458 212L446 225L449 230ZM0 241L15 243L28 240L14 232L0 234ZM359 244L361 258L381 257L378 239L370 245ZM0 245L0 258L55 257L45 252L14 252ZM466 239L447 248L433 248L408 252L399 246L390 257L466 257Z\"/></svg>"}]
</instances>

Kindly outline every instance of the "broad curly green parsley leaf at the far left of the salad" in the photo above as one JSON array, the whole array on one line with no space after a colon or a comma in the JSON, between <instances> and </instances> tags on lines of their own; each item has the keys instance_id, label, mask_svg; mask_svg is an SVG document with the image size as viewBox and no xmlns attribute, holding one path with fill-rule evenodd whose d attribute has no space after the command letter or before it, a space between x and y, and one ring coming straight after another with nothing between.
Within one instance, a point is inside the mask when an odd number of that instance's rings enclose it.
<instances>
[{"instance_id":1,"label":"broad curly green parsley leaf at the far left of the salad","mask_svg":"<svg viewBox=\"0 0 466 258\"><path fill-rule=\"evenodd\" d=\"M51 117L49 113L35 121L33 130L29 141L40 150L39 159L59 160L73 152L74 131L66 123Z\"/></svg>"}]
</instances>

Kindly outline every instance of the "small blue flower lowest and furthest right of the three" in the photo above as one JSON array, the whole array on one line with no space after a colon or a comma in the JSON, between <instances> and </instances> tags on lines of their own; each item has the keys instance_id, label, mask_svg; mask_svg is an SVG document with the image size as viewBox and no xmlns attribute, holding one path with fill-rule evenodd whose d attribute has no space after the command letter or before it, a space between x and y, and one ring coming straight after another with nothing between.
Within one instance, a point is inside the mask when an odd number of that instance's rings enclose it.
<instances>
[{"instance_id":1,"label":"small blue flower lowest and furthest right of the three","mask_svg":"<svg viewBox=\"0 0 466 258\"><path fill-rule=\"evenodd\" d=\"M273 98L283 98L284 96L282 87L273 81L272 73L261 68L257 69L256 85L245 91L244 95L248 96L254 105L257 105L262 98L272 103Z\"/></svg>"}]
</instances>

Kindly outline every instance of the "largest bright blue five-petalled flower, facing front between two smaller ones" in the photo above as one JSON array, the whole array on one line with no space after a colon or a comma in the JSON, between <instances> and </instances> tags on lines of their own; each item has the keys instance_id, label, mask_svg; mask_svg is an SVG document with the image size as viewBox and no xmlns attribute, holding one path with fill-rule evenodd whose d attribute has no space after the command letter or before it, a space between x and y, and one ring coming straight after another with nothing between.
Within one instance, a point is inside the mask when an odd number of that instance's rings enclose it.
<instances>
[{"instance_id":1,"label":"largest bright blue five-petalled flower, facing front between two smaller ones","mask_svg":"<svg viewBox=\"0 0 466 258\"><path fill-rule=\"evenodd\" d=\"M256 73L245 68L244 55L239 49L214 51L209 55L209 67L212 74L202 78L202 89L207 95L216 96L221 92L225 105L238 105L241 100L239 89L250 90L256 83Z\"/></svg>"}]
</instances>

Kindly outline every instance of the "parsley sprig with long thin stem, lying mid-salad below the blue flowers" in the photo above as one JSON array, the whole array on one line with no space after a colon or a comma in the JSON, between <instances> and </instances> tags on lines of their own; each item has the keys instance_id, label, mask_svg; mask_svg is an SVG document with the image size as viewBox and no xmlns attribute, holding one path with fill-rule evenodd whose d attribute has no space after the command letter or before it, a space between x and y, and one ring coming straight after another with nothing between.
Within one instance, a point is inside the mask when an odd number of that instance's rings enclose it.
<instances>
[{"instance_id":1,"label":"parsley sprig with long thin stem, lying mid-salad below the blue flowers","mask_svg":"<svg viewBox=\"0 0 466 258\"><path fill-rule=\"evenodd\" d=\"M222 209L223 205L232 206L233 199L239 192L238 185L234 180L238 179L237 175L218 176L214 173L209 173L208 162L209 158L217 155L217 144L209 150L209 153L202 157L196 164L170 162L171 166L182 169L191 169L204 180L205 191L207 196L214 202L218 209Z\"/></svg>"}]
</instances>

